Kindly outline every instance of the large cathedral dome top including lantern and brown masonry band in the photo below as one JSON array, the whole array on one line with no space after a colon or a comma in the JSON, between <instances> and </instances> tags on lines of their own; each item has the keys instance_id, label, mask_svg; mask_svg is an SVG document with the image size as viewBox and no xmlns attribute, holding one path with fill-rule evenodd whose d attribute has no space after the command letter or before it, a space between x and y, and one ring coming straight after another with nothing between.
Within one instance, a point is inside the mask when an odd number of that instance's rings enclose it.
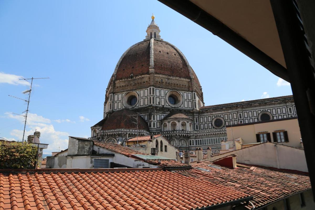
<instances>
[{"instance_id":1,"label":"large cathedral dome top including lantern and brown masonry band","mask_svg":"<svg viewBox=\"0 0 315 210\"><path fill-rule=\"evenodd\" d=\"M107 90L117 92L127 91L128 86L136 89L158 85L161 88L196 92L203 101L195 72L178 48L161 39L154 18L146 32L146 39L132 45L118 60ZM144 78L151 75L150 79ZM124 82L127 80L128 85Z\"/></svg>"}]
</instances>

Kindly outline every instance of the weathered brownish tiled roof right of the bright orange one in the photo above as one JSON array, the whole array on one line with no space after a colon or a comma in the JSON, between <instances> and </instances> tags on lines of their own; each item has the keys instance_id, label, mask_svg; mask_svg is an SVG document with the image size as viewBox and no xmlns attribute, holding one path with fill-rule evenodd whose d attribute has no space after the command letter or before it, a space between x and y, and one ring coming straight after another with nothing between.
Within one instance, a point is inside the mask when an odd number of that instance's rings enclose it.
<instances>
[{"instance_id":1,"label":"weathered brownish tiled roof right of the bright orange one","mask_svg":"<svg viewBox=\"0 0 315 210\"><path fill-rule=\"evenodd\" d=\"M201 167L210 172L193 169L178 173L193 176L200 181L207 180L215 184L225 183L227 186L253 196L254 199L251 202L256 207L311 189L310 179L306 173L292 173L261 166L234 169L219 166L221 169L217 169L208 165L213 165L213 163L198 161L192 164L192 167Z\"/></svg>"}]
</instances>

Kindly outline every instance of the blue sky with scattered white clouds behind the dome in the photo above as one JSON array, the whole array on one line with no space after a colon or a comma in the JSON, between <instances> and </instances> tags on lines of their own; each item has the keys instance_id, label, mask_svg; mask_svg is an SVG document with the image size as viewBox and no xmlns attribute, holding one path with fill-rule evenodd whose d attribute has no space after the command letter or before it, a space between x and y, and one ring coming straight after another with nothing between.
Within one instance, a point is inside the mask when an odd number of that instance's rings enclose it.
<instances>
[{"instance_id":1,"label":"blue sky with scattered white clouds behind the dome","mask_svg":"<svg viewBox=\"0 0 315 210\"><path fill-rule=\"evenodd\" d=\"M103 116L109 78L123 52L146 36L154 13L161 38L196 72L206 105L290 95L287 82L158 1L0 1L0 137L22 139L28 88L34 81L26 136L41 131L45 153L89 137Z\"/></svg>"}]
</instances>

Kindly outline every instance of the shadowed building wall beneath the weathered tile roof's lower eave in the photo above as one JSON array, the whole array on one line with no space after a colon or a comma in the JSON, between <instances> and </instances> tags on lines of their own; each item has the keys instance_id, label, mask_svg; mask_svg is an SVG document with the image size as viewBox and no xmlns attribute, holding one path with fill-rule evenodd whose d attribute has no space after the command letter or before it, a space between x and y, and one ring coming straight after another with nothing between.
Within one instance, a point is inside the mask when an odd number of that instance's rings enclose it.
<instances>
[{"instance_id":1,"label":"shadowed building wall beneath the weathered tile roof's lower eave","mask_svg":"<svg viewBox=\"0 0 315 210\"><path fill-rule=\"evenodd\" d=\"M301 207L300 195L296 194L289 197L290 209L301 209L301 210L313 210L315 209L315 203L313 200L312 190L306 190L303 192L304 199L305 199L305 206ZM277 210L286 210L284 207L284 199L274 202L268 206L266 206L267 210L273 210L273 208Z\"/></svg>"}]
</instances>

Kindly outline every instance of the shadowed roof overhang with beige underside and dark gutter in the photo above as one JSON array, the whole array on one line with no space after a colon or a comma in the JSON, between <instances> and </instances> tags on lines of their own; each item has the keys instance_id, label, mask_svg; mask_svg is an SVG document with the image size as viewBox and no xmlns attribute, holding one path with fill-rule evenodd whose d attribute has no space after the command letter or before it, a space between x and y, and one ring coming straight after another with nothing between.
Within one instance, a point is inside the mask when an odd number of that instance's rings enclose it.
<instances>
[{"instance_id":1,"label":"shadowed roof overhang with beige underside and dark gutter","mask_svg":"<svg viewBox=\"0 0 315 210\"><path fill-rule=\"evenodd\" d=\"M270 1L158 0L289 82Z\"/></svg>"}]
</instances>

